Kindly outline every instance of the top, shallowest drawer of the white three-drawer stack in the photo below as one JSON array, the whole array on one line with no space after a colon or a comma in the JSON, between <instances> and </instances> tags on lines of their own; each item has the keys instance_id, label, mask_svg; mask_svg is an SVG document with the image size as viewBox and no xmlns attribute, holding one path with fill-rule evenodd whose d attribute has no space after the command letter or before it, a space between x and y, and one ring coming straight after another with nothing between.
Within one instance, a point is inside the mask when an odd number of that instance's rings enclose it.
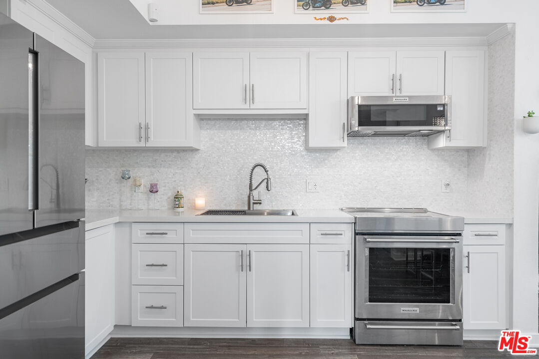
<instances>
[{"instance_id":1,"label":"top, shallowest drawer of the white three-drawer stack","mask_svg":"<svg viewBox=\"0 0 539 359\"><path fill-rule=\"evenodd\" d=\"M183 243L183 223L133 223L133 243Z\"/></svg>"}]
</instances>

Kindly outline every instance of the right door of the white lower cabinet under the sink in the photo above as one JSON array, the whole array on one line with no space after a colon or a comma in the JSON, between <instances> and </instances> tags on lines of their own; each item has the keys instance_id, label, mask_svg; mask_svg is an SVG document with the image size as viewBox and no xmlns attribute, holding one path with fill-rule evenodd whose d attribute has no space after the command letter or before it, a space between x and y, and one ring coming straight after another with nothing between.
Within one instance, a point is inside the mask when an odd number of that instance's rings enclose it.
<instances>
[{"instance_id":1,"label":"right door of the white lower cabinet under the sink","mask_svg":"<svg viewBox=\"0 0 539 359\"><path fill-rule=\"evenodd\" d=\"M247 249L247 327L308 327L309 245Z\"/></svg>"}]
</instances>

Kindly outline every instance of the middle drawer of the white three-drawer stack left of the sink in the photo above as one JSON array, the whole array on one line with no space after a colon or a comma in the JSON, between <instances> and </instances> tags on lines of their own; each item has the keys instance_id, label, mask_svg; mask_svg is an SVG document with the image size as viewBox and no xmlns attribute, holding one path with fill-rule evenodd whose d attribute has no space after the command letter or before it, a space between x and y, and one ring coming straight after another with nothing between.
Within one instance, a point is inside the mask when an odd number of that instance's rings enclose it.
<instances>
[{"instance_id":1,"label":"middle drawer of the white three-drawer stack left of the sink","mask_svg":"<svg viewBox=\"0 0 539 359\"><path fill-rule=\"evenodd\" d=\"M183 244L133 244L132 284L183 285Z\"/></svg>"}]
</instances>

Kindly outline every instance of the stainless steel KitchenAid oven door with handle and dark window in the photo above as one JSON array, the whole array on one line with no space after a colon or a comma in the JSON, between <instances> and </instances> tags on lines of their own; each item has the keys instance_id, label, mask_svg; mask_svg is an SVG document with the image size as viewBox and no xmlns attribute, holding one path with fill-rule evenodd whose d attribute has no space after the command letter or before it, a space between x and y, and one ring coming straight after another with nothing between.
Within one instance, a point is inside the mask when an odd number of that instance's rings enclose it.
<instances>
[{"instance_id":1,"label":"stainless steel KitchenAid oven door with handle and dark window","mask_svg":"<svg viewBox=\"0 0 539 359\"><path fill-rule=\"evenodd\" d=\"M459 236L356 236L356 318L462 319Z\"/></svg>"}]
</instances>

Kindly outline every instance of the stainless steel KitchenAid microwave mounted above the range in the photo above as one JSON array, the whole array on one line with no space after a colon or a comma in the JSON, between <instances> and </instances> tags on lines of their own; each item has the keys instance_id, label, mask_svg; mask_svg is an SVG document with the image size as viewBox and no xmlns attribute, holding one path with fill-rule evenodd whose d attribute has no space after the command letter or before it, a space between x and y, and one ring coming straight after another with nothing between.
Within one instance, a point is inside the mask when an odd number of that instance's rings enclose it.
<instances>
[{"instance_id":1,"label":"stainless steel KitchenAid microwave mounted above the range","mask_svg":"<svg viewBox=\"0 0 539 359\"><path fill-rule=\"evenodd\" d=\"M352 96L348 137L430 136L451 130L451 96Z\"/></svg>"}]
</instances>

